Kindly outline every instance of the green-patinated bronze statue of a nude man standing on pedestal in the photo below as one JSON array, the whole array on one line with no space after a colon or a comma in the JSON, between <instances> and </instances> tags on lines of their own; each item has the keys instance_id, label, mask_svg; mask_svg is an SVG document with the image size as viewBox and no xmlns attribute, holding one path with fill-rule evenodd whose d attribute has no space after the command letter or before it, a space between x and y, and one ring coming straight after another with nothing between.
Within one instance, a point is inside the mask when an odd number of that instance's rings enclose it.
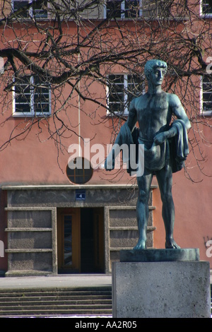
<instances>
[{"instance_id":1,"label":"green-patinated bronze statue of a nude man standing on pedestal","mask_svg":"<svg viewBox=\"0 0 212 332\"><path fill-rule=\"evenodd\" d=\"M161 88L166 71L167 64L164 61L150 60L146 62L144 73L148 81L148 91L131 101L129 117L125 124L130 131L133 131L136 122L139 122L138 141L140 144L144 144L144 173L142 176L137 177L139 196L136 214L139 240L134 250L146 249L148 198L153 175L157 177L163 203L162 215L165 225L165 248L179 248L173 238L175 206L172 199L173 167L170 158L172 152L170 140L178 137L177 144L179 148L180 140L182 140L183 136L182 134L181 136L179 135L179 131L185 131L186 134L184 136L187 136L187 130L191 127L191 124L179 101L179 97L175 94L165 93ZM172 115L177 120L170 125ZM118 135L115 143L119 143L119 141ZM179 151L181 157L185 146L186 143L182 142L181 150ZM184 151L183 160L187 158L188 153L187 148L187 151ZM179 156L179 158L181 157ZM107 167L107 162L111 163L111 158L111 155L109 155L105 161L106 170L111 170L110 167Z\"/></svg>"}]
</instances>

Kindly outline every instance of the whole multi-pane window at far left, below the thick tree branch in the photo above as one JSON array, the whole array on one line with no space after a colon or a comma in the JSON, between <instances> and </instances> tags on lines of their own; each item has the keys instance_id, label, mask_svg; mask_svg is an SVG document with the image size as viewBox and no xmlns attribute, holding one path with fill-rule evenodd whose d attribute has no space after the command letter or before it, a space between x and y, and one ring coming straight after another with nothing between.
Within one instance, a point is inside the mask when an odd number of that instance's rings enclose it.
<instances>
[{"instance_id":1,"label":"whole multi-pane window at far left, below the thick tree branch","mask_svg":"<svg viewBox=\"0 0 212 332\"><path fill-rule=\"evenodd\" d=\"M30 117L50 114L49 83L41 83L40 79L34 76L24 77L16 81L13 93L14 116Z\"/></svg>"}]
</instances>

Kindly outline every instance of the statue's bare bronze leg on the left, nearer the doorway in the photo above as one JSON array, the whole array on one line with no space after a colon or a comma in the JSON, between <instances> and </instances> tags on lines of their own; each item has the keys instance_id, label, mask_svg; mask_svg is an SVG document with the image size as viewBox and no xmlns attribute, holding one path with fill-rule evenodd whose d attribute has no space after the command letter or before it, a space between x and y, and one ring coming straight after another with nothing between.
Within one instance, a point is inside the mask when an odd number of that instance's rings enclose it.
<instances>
[{"instance_id":1,"label":"statue's bare bronze leg on the left, nearer the doorway","mask_svg":"<svg viewBox=\"0 0 212 332\"><path fill-rule=\"evenodd\" d=\"M146 228L148 223L148 198L151 189L152 174L137 177L139 186L139 197L137 201L136 214L139 228L139 240L134 250L146 249Z\"/></svg>"}]
</instances>

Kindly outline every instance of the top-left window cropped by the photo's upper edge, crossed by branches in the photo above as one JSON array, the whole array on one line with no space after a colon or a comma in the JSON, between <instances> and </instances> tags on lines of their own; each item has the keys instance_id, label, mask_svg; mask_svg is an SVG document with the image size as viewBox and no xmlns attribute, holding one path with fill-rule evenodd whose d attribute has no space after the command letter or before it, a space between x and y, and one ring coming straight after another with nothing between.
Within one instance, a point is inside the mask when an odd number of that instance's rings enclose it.
<instances>
[{"instance_id":1,"label":"top-left window cropped by the photo's upper edge, crossed by branches","mask_svg":"<svg viewBox=\"0 0 212 332\"><path fill-rule=\"evenodd\" d=\"M47 2L48 1L42 1L42 2L37 2L33 0L28 0L28 1L15 1L12 0L12 6L13 6L13 11L16 12L20 8L23 8L27 6L28 4L32 4L29 8L27 8L25 11L22 11L18 13L19 17L22 18L27 18L28 16L30 17L35 17L35 18L47 18Z\"/></svg>"}]
</instances>

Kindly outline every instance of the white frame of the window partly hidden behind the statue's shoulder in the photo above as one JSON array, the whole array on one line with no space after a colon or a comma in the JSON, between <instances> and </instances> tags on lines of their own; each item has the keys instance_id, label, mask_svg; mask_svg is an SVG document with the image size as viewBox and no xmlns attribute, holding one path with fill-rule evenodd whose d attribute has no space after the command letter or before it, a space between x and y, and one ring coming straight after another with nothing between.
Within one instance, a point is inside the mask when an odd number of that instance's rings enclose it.
<instances>
[{"instance_id":1,"label":"white frame of the window partly hidden behind the statue's shoulder","mask_svg":"<svg viewBox=\"0 0 212 332\"><path fill-rule=\"evenodd\" d=\"M128 100L128 88L129 88L129 79L128 76L133 76L130 73L110 73L107 74L107 78L109 78L110 76L124 76L124 83L123 83L123 90L122 90L122 94L123 94L123 104L124 104L124 112L122 113L122 111L115 111L114 113L110 112L110 87L108 85L106 85L106 109L107 109L107 115L114 115L114 114L123 114L124 116L129 115L129 108L127 107L126 103ZM144 93L146 93L145 90L145 83L143 81L143 88L141 93L144 95Z\"/></svg>"}]
</instances>

